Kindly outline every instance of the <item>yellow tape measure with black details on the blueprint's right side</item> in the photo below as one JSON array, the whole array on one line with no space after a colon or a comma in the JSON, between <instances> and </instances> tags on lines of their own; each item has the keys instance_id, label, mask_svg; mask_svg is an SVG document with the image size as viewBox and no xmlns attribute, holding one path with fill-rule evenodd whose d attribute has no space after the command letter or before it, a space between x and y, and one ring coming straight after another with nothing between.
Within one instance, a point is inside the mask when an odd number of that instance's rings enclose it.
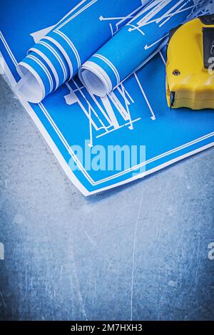
<instances>
[{"instance_id":1,"label":"yellow tape measure with black details on the blueprint's right side","mask_svg":"<svg viewBox=\"0 0 214 335\"><path fill-rule=\"evenodd\" d=\"M214 108L214 14L170 31L166 96L170 108Z\"/></svg>"}]
</instances>

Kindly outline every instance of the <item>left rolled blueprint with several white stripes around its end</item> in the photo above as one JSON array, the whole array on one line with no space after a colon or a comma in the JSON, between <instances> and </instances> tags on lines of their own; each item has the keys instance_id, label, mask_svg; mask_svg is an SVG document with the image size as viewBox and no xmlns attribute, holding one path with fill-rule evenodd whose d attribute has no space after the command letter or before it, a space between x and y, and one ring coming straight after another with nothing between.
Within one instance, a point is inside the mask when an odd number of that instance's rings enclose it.
<instances>
[{"instance_id":1,"label":"left rolled blueprint with several white stripes around its end","mask_svg":"<svg viewBox=\"0 0 214 335\"><path fill-rule=\"evenodd\" d=\"M16 93L31 103L41 102L150 1L80 1L19 63Z\"/></svg>"}]
</instances>

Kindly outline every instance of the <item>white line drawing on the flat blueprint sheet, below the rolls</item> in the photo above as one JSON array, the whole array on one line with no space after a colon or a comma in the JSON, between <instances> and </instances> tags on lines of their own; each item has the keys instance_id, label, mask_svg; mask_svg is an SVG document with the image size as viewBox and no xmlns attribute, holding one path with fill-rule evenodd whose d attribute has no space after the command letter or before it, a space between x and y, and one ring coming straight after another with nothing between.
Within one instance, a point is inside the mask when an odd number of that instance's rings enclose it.
<instances>
[{"instance_id":1,"label":"white line drawing on the flat blueprint sheet, below the rolls","mask_svg":"<svg viewBox=\"0 0 214 335\"><path fill-rule=\"evenodd\" d=\"M148 105L151 120L156 120L156 115L138 79L137 73L133 74L133 78L135 78L142 97L146 101L146 105ZM133 130L134 123L141 120L141 118L133 119L131 116L130 106L134 103L134 100L123 83L120 83L113 92L103 98L94 96L74 79L66 83L66 86L69 91L69 93L64 96L66 103L68 105L78 103L88 118L90 147L93 146L94 138L101 138L123 127L128 127L129 130ZM94 135L94 133L96 133L96 135Z\"/></svg>"}]
</instances>

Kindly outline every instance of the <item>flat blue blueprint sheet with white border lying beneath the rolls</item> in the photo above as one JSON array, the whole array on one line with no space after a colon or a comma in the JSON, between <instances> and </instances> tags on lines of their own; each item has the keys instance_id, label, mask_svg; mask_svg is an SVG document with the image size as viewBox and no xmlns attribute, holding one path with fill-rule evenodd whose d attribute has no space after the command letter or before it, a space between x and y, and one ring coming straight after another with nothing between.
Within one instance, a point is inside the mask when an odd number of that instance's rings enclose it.
<instances>
[{"instance_id":1,"label":"flat blue blueprint sheet with white border lying beneath the rolls","mask_svg":"<svg viewBox=\"0 0 214 335\"><path fill-rule=\"evenodd\" d=\"M60 5L57 2L1 1L1 65L12 86L20 79L16 65L34 45L39 32L54 26L71 9L71 3L78 4L70 0L62 0ZM120 20L109 17L109 29L116 29ZM84 195L143 177L213 145L212 110L168 109L164 51L106 98L92 96L75 77L42 103L22 103L63 170ZM116 145L137 149L142 146L145 155L137 155L127 168L125 150L121 167L111 165L113 154L111 151L108 155L108 148ZM83 157L91 162L95 158L96 163L98 153L101 158L104 150L108 164L105 167L102 162L100 169L98 164L91 168L75 148L82 148Z\"/></svg>"}]
</instances>

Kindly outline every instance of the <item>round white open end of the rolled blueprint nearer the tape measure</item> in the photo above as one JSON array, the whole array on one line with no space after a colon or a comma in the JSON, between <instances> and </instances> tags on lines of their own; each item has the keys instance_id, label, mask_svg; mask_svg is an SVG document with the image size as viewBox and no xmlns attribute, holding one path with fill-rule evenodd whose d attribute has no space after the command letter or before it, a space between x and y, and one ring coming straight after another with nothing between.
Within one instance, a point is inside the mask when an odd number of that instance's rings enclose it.
<instances>
[{"instance_id":1,"label":"round white open end of the rolled blueprint nearer the tape measure","mask_svg":"<svg viewBox=\"0 0 214 335\"><path fill-rule=\"evenodd\" d=\"M78 77L88 92L104 97L113 90L111 79L106 71L96 63L86 61L78 71Z\"/></svg>"}]
</instances>

